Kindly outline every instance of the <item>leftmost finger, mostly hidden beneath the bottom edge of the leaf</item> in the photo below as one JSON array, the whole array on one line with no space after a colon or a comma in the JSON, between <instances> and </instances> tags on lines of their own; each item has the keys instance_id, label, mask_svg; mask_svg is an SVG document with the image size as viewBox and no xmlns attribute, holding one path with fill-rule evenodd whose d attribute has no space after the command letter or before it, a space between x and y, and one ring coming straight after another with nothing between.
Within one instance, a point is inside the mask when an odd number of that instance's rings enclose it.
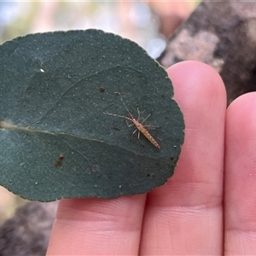
<instances>
[{"instance_id":1,"label":"leftmost finger, mostly hidden beneath the bottom edge of the leaf","mask_svg":"<svg viewBox=\"0 0 256 256\"><path fill-rule=\"evenodd\" d=\"M61 200L47 255L137 255L145 198Z\"/></svg>"}]
</instances>

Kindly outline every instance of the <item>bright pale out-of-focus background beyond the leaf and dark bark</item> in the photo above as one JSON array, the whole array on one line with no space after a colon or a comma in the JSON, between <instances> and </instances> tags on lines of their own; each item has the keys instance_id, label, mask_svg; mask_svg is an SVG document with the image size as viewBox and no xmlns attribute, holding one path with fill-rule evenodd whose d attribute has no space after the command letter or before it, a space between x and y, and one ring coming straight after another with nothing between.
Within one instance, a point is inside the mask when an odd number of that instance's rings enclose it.
<instances>
[{"instance_id":1,"label":"bright pale out-of-focus background beyond the leaf and dark bark","mask_svg":"<svg viewBox=\"0 0 256 256\"><path fill-rule=\"evenodd\" d=\"M35 32L102 29L130 38L157 58L199 0L0 2L0 44ZM26 201L0 186L0 224Z\"/></svg>"}]
</instances>

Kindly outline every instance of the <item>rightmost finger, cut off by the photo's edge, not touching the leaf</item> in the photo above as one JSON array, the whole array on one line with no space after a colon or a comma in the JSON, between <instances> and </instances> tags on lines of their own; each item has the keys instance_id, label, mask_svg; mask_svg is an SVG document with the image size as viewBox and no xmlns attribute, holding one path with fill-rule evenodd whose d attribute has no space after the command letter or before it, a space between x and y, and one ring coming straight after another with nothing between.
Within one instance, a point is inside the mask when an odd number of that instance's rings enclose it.
<instances>
[{"instance_id":1,"label":"rightmost finger, cut off by the photo's edge, not touching the leaf","mask_svg":"<svg viewBox=\"0 0 256 256\"><path fill-rule=\"evenodd\" d=\"M256 93L240 96L226 115L226 255L256 253Z\"/></svg>"}]
</instances>

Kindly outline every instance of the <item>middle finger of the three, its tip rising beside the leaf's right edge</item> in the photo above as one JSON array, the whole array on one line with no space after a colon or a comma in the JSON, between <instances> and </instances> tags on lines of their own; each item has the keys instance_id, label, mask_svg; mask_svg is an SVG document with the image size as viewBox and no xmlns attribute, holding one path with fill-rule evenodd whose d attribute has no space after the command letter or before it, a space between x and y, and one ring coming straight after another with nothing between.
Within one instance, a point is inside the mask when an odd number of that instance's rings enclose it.
<instances>
[{"instance_id":1,"label":"middle finger of the three, its tip rising beside the leaf's right edge","mask_svg":"<svg viewBox=\"0 0 256 256\"><path fill-rule=\"evenodd\" d=\"M186 61L168 70L184 114L174 176L148 194L142 255L219 255L223 234L224 84L211 67Z\"/></svg>"}]
</instances>

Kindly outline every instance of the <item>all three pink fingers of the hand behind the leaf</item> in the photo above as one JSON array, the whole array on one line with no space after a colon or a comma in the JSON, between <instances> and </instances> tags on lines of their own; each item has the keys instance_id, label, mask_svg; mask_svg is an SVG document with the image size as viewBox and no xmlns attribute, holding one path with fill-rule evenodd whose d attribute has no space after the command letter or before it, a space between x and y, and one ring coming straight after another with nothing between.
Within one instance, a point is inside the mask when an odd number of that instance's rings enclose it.
<instances>
[{"instance_id":1,"label":"all three pink fingers of the hand behind the leaf","mask_svg":"<svg viewBox=\"0 0 256 256\"><path fill-rule=\"evenodd\" d=\"M186 125L174 176L144 195L61 200L47 255L255 255L256 93L226 109L212 67L167 72Z\"/></svg>"}]
</instances>

